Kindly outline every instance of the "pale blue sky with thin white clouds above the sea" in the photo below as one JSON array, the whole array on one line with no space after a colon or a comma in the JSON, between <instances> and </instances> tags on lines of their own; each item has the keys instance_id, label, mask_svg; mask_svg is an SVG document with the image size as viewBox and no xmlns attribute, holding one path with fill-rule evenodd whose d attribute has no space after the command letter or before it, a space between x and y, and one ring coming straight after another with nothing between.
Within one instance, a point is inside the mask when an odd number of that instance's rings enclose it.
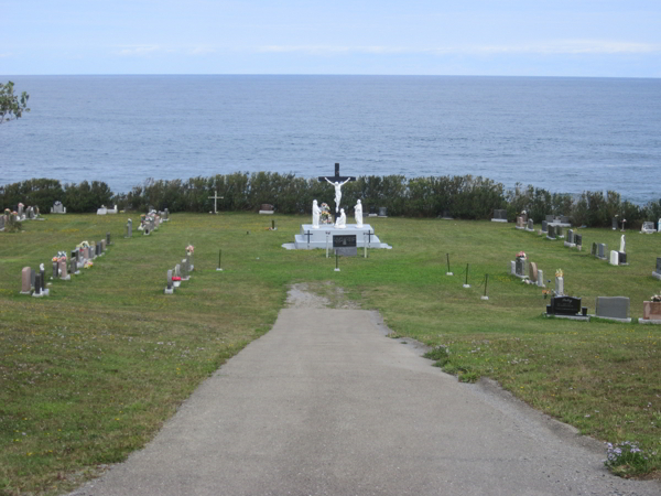
<instances>
[{"instance_id":1,"label":"pale blue sky with thin white clouds above the sea","mask_svg":"<svg viewBox=\"0 0 661 496\"><path fill-rule=\"evenodd\" d=\"M0 75L661 77L660 0L0 0Z\"/></svg>"}]
</instances>

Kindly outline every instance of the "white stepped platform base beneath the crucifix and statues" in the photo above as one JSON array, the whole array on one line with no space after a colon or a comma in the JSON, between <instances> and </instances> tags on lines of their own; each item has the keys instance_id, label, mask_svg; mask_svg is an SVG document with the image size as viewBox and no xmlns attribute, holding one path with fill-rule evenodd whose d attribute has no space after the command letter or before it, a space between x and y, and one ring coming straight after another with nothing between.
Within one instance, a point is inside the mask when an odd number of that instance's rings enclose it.
<instances>
[{"instance_id":1,"label":"white stepped platform base beneath the crucifix and statues","mask_svg":"<svg viewBox=\"0 0 661 496\"><path fill-rule=\"evenodd\" d=\"M301 234L294 236L294 242L288 242L282 245L283 248L289 250L312 250L315 248L333 249L333 236L356 236L357 248L364 248L366 245L368 248L386 248L392 249L391 246L381 242L378 236L375 235L375 229L369 224L364 224L358 227L356 224L347 224L346 227L335 227L334 224L322 224L318 229L314 229L312 224L302 224Z\"/></svg>"}]
</instances>

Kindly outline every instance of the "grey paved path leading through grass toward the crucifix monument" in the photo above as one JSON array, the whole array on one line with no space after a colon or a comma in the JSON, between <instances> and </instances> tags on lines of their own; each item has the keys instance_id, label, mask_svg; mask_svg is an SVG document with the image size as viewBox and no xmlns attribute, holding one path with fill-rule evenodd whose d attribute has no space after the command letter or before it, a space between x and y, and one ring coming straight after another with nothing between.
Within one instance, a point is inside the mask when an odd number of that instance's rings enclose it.
<instances>
[{"instance_id":1,"label":"grey paved path leading through grass toward the crucifix monument","mask_svg":"<svg viewBox=\"0 0 661 496\"><path fill-rule=\"evenodd\" d=\"M464 385L375 312L285 309L153 442L82 496L640 495L602 443Z\"/></svg>"}]
</instances>

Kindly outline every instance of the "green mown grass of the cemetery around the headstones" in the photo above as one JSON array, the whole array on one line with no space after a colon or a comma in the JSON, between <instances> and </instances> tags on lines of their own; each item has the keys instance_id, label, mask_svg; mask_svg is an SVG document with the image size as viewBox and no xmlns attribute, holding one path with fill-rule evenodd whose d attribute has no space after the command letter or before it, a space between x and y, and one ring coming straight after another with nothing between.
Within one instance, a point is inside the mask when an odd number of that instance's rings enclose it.
<instances>
[{"instance_id":1,"label":"green mown grass of the cemetery around the headstones","mask_svg":"<svg viewBox=\"0 0 661 496\"><path fill-rule=\"evenodd\" d=\"M392 338L446 347L438 365L458 380L491 378L583 434L638 442L648 460L622 475L661 473L661 326L546 319L542 290L509 274L523 250L546 279L563 269L565 293L589 313L596 296L625 295L637 322L642 301L660 292L651 271L661 235L628 231L629 266L614 267L589 254L593 241L619 246L621 233L609 229L579 229L576 251L513 224L366 218L393 249L367 259L359 249L335 272L325 250L281 248L307 216L174 214L152 235L124 239L128 217L139 216L50 215L0 234L1 495L63 493L124 460L269 331L299 282L379 311ZM108 231L113 245L94 267L53 281L50 296L19 294L23 267L43 262L50 276L58 250ZM166 271L188 244L192 278L165 295Z\"/></svg>"}]
</instances>

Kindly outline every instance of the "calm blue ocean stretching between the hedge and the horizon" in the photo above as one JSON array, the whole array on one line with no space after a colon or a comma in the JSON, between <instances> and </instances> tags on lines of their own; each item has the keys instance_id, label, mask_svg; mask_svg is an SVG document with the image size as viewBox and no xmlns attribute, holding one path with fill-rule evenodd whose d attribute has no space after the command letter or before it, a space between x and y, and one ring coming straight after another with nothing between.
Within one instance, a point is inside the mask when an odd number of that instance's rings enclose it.
<instances>
[{"instance_id":1,"label":"calm blue ocean stretching between the hedge and the horizon","mask_svg":"<svg viewBox=\"0 0 661 496\"><path fill-rule=\"evenodd\" d=\"M481 175L661 197L661 79L476 76L0 76L0 184L271 171Z\"/></svg>"}]
</instances>

